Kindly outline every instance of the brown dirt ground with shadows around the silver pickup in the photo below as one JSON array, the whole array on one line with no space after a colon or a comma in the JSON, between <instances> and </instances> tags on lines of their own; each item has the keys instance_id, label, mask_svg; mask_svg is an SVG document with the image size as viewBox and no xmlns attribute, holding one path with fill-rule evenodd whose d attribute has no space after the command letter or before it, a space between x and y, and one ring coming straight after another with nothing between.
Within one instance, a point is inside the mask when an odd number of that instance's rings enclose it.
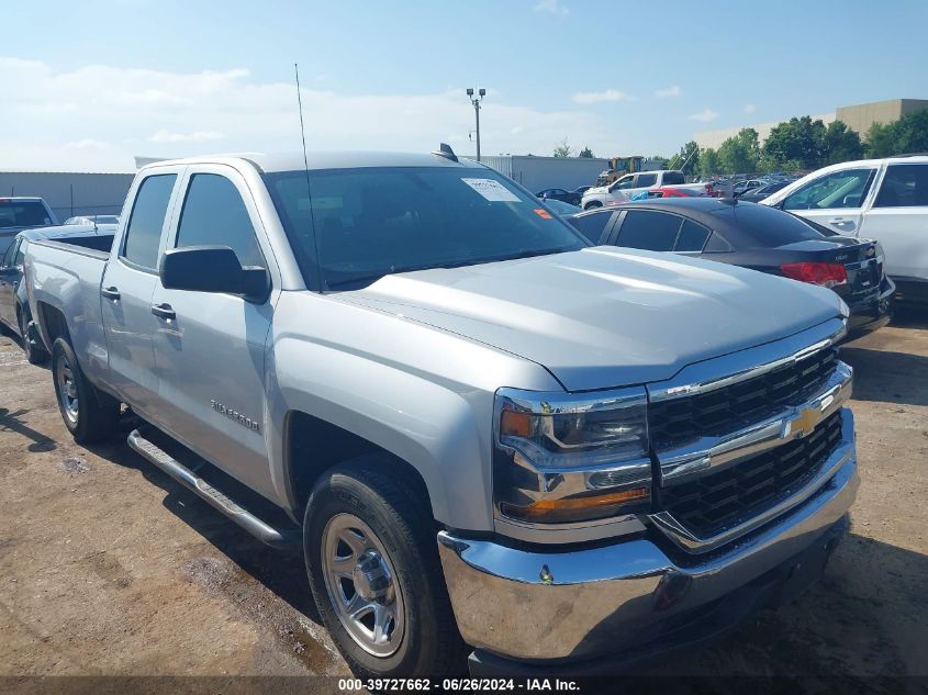
<instances>
[{"instance_id":1,"label":"brown dirt ground with shadows around the silver pickup","mask_svg":"<svg viewBox=\"0 0 928 695\"><path fill-rule=\"evenodd\" d=\"M680 674L928 675L928 311L850 344L862 485L825 579ZM0 676L347 675L302 562L120 442L75 445L0 338ZM877 688L879 690L879 688Z\"/></svg>"}]
</instances>

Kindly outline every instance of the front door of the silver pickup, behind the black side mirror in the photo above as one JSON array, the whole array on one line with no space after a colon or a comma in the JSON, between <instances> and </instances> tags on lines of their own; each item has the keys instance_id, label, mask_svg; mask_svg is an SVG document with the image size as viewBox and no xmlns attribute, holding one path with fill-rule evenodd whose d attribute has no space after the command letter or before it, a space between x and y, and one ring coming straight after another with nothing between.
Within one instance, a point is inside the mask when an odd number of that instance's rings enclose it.
<instances>
[{"instance_id":1,"label":"front door of the silver pickup, behind the black side mirror","mask_svg":"<svg viewBox=\"0 0 928 695\"><path fill-rule=\"evenodd\" d=\"M167 248L228 246L242 266L260 266L275 277L261 220L235 169L194 165L181 187ZM158 280L150 301L158 312L158 419L188 447L266 492L265 344L277 295L275 290L256 304L233 294L168 290Z\"/></svg>"}]
</instances>

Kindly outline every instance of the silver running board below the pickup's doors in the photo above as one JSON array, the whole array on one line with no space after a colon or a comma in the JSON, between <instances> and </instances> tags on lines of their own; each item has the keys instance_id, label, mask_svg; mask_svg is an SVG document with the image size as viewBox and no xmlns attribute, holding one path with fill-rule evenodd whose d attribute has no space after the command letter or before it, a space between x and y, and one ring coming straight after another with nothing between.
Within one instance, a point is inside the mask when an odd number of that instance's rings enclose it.
<instances>
[{"instance_id":1,"label":"silver running board below the pickup's doors","mask_svg":"<svg viewBox=\"0 0 928 695\"><path fill-rule=\"evenodd\" d=\"M255 538L272 548L297 550L301 547L300 535L292 529L277 529L262 522L257 516L239 506L234 500L224 495L205 480L197 475L189 468L146 439L137 429L128 434L126 440L130 448L147 461L150 461L165 473L181 483L185 487L202 497L210 505L225 514Z\"/></svg>"}]
</instances>

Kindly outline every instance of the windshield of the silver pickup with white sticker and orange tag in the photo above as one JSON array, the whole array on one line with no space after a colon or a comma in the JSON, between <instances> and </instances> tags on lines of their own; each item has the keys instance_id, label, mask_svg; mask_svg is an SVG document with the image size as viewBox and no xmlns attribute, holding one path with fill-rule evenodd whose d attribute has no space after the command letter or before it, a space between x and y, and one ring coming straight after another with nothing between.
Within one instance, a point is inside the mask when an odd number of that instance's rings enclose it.
<instances>
[{"instance_id":1,"label":"windshield of the silver pickup with white sticker and orange tag","mask_svg":"<svg viewBox=\"0 0 928 695\"><path fill-rule=\"evenodd\" d=\"M266 173L265 181L308 285L323 291L589 246L544 203L489 169L284 171Z\"/></svg>"}]
</instances>

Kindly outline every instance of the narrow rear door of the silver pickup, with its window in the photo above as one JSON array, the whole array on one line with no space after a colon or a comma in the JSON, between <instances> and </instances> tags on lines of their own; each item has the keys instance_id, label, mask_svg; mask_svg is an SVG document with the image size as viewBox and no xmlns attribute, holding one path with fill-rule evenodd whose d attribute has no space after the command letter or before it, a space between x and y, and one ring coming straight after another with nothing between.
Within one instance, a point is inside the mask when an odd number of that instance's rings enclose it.
<instances>
[{"instance_id":1,"label":"narrow rear door of the silver pickup, with its window","mask_svg":"<svg viewBox=\"0 0 928 695\"><path fill-rule=\"evenodd\" d=\"M157 403L158 377L152 347L152 294L158 254L170 222L178 172L157 172L141 181L125 232L116 240L100 288L111 384L141 415Z\"/></svg>"}]
</instances>

